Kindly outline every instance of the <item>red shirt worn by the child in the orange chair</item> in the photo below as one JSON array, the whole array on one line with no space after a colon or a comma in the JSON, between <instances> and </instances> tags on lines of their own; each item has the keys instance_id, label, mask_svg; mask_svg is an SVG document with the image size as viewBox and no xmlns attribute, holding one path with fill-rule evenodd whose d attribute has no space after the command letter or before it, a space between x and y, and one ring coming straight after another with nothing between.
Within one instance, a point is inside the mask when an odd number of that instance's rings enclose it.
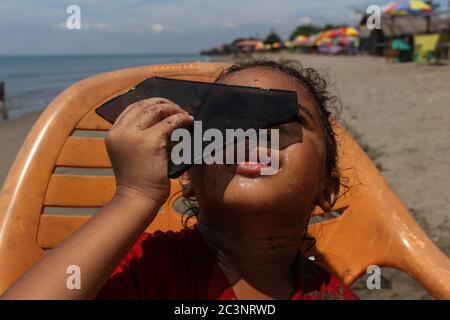
<instances>
[{"instance_id":1,"label":"red shirt worn by the child in the orange chair","mask_svg":"<svg viewBox=\"0 0 450 320\"><path fill-rule=\"evenodd\" d=\"M307 280L299 277L293 300L357 299L335 276L308 263L312 266L308 268L309 277ZM304 292L306 281L308 292ZM193 228L144 233L97 299L232 300L236 297L197 228Z\"/></svg>"}]
</instances>

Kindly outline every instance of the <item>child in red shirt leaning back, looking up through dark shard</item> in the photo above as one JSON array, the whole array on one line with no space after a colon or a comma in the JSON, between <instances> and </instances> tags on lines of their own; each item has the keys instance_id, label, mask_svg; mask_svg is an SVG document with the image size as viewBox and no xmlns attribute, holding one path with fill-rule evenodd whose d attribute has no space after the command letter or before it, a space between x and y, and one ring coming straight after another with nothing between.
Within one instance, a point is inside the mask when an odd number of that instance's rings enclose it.
<instances>
[{"instance_id":1,"label":"child in red shirt leaning back, looking up through dark shard","mask_svg":"<svg viewBox=\"0 0 450 320\"><path fill-rule=\"evenodd\" d=\"M339 190L326 82L273 61L234 65L217 82L297 92L299 121L279 127L278 173L259 175L263 164L248 162L194 166L180 183L199 204L197 225L143 234L169 195L170 134L192 117L162 98L135 103L106 138L112 200L4 298L356 298L300 251L313 208L330 209ZM78 290L67 289L69 265L80 268Z\"/></svg>"}]
</instances>

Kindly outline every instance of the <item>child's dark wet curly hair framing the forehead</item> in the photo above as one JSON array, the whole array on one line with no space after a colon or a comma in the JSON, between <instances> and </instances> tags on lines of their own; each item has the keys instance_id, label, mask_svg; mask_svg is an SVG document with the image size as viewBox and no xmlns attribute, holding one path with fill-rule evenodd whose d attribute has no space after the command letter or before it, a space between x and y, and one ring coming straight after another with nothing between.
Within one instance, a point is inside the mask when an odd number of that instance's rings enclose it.
<instances>
[{"instance_id":1,"label":"child's dark wet curly hair framing the forehead","mask_svg":"<svg viewBox=\"0 0 450 320\"><path fill-rule=\"evenodd\" d=\"M325 137L326 178L336 187L339 187L340 177L337 170L337 142L332 129L332 118L333 112L338 111L340 107L340 100L336 95L331 93L329 81L315 69L304 68L296 61L258 59L233 64L231 67L225 69L217 77L215 82L224 80L234 73L255 68L266 68L285 74L297 81L313 97ZM186 227L189 218L198 215L199 208L194 199L187 199L185 204L188 209L186 210L187 219L183 221L183 225Z\"/></svg>"}]
</instances>

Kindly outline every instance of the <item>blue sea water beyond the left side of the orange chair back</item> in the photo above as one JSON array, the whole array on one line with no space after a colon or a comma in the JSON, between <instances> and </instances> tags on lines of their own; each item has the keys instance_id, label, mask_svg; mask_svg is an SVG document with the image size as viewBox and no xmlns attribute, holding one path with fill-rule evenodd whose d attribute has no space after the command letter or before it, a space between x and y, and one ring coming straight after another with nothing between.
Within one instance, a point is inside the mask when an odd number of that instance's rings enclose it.
<instances>
[{"instance_id":1,"label":"blue sea water beyond the left side of the orange chair back","mask_svg":"<svg viewBox=\"0 0 450 320\"><path fill-rule=\"evenodd\" d=\"M0 56L10 118L41 111L64 89L89 76L112 70L163 63L208 61L189 53L48 54Z\"/></svg>"}]
</instances>

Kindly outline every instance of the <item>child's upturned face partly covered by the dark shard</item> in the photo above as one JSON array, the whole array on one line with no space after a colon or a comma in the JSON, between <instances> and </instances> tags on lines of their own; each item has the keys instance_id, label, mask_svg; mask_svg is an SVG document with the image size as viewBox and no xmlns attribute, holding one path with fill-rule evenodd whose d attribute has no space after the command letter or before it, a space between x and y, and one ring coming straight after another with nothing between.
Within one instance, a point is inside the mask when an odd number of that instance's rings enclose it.
<instances>
[{"instance_id":1,"label":"child's upturned face partly covered by the dark shard","mask_svg":"<svg viewBox=\"0 0 450 320\"><path fill-rule=\"evenodd\" d=\"M289 124L296 139L290 139L287 145L283 144L280 128L279 171L275 175L246 175L236 172L233 165L193 167L189 178L201 214L223 212L224 218L230 219L233 213L248 217L270 213L296 219L300 215L306 221L326 185L325 137L314 99L291 77L263 67L238 71L221 82L295 91L299 103L309 112L299 108L307 125ZM291 219L277 220L292 223Z\"/></svg>"}]
</instances>

